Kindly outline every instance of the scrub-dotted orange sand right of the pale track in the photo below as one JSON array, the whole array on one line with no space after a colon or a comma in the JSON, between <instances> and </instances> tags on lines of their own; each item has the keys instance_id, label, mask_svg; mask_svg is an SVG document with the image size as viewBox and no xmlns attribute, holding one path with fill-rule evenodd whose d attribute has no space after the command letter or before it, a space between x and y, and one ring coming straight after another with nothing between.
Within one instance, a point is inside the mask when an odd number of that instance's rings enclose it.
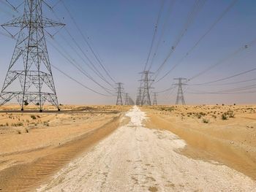
<instances>
[{"instance_id":1,"label":"scrub-dotted orange sand right of the pale track","mask_svg":"<svg viewBox=\"0 0 256 192\"><path fill-rule=\"evenodd\" d=\"M143 107L148 127L164 128L186 140L184 155L218 161L256 180L256 106L199 105Z\"/></svg>"}]
</instances>

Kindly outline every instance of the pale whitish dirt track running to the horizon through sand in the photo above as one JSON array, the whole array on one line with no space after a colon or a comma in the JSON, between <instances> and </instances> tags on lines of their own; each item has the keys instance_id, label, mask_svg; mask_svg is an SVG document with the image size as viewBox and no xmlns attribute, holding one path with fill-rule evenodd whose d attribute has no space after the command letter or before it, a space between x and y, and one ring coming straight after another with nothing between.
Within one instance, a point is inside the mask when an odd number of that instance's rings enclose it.
<instances>
[{"instance_id":1,"label":"pale whitish dirt track running to the horizon through sand","mask_svg":"<svg viewBox=\"0 0 256 192\"><path fill-rule=\"evenodd\" d=\"M126 126L37 191L256 191L244 174L178 153L186 143L170 131L144 127L146 115L138 107L127 116Z\"/></svg>"}]
</instances>

